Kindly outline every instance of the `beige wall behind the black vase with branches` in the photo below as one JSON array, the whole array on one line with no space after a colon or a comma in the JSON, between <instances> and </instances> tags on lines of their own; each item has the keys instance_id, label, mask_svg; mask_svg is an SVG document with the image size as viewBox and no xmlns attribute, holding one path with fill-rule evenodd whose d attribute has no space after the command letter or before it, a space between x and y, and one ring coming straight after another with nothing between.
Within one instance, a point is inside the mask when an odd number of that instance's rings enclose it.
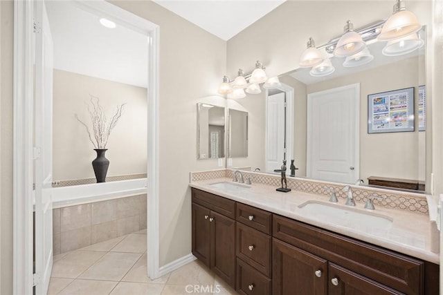
<instances>
[{"instance_id":1,"label":"beige wall behind the black vase with branches","mask_svg":"<svg viewBox=\"0 0 443 295\"><path fill-rule=\"evenodd\" d=\"M89 95L100 99L108 122L116 106L126 103L123 115L109 136L107 176L146 173L146 88L64 70L53 73L53 180L95 177L91 161L96 158L96 152L84 126L74 117L78 114L92 132L87 110Z\"/></svg>"}]
</instances>

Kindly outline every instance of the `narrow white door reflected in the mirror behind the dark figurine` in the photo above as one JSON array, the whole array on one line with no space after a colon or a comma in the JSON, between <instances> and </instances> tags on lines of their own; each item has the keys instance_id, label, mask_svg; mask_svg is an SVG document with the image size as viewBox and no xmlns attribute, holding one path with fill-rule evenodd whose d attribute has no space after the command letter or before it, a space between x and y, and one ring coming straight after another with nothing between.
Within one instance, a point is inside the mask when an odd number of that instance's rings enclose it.
<instances>
[{"instance_id":1,"label":"narrow white door reflected in the mirror behind the dark figurine","mask_svg":"<svg viewBox=\"0 0 443 295\"><path fill-rule=\"evenodd\" d=\"M269 95L266 99L266 171L281 169L286 146L285 93ZM287 170L289 171L289 169Z\"/></svg>"}]
</instances>

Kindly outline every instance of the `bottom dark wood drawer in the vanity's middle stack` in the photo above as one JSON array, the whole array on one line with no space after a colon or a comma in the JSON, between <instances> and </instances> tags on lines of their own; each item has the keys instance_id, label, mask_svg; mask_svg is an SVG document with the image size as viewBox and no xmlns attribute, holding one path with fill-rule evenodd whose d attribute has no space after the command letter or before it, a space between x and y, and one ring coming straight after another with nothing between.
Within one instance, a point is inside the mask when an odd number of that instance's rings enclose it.
<instances>
[{"instance_id":1,"label":"bottom dark wood drawer in the vanity's middle stack","mask_svg":"<svg viewBox=\"0 0 443 295\"><path fill-rule=\"evenodd\" d=\"M269 295L271 279L237 258L237 292L242 295Z\"/></svg>"}]
</instances>

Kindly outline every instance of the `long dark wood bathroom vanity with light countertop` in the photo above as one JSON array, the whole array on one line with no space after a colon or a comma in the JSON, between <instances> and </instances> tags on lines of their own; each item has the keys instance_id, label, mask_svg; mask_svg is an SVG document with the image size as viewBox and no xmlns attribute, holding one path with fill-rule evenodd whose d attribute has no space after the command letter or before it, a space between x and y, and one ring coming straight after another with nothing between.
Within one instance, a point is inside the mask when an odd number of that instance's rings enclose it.
<instances>
[{"instance_id":1,"label":"long dark wood bathroom vanity with light countertop","mask_svg":"<svg viewBox=\"0 0 443 295\"><path fill-rule=\"evenodd\" d=\"M409 245L389 241L401 232L394 223L390 234L370 228L359 234L325 216L323 227L297 216L297 204L312 194L210 183L190 184L192 254L239 294L438 294L438 255L426 246L414 255ZM386 247L368 242L377 236Z\"/></svg>"}]
</instances>

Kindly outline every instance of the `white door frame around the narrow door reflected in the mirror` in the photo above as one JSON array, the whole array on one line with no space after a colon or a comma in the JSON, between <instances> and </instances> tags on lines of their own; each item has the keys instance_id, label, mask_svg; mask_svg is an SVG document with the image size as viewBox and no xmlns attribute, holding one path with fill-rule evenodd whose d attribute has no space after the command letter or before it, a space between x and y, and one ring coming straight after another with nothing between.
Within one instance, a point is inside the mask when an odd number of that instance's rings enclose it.
<instances>
[{"instance_id":1,"label":"white door frame around the narrow door reflected in the mirror","mask_svg":"<svg viewBox=\"0 0 443 295\"><path fill-rule=\"evenodd\" d=\"M286 165L289 166L289 164L291 164L290 160L293 159L293 155L294 150L293 150L293 122L294 122L294 117L295 117L295 111L293 109L294 107L294 90L291 86L287 85L287 84L283 84L277 88L280 91L284 92L284 95L286 97ZM265 107L266 107L266 113L265 113L265 120L267 121L268 119L268 99L269 96L269 90L266 89L266 102L265 102ZM266 166L266 155L267 155L267 143L266 143L266 139L268 138L268 129L267 129L267 124L266 124L266 128L264 131L264 165ZM289 163L289 164L288 164ZM287 170L289 171L289 169Z\"/></svg>"}]
</instances>

